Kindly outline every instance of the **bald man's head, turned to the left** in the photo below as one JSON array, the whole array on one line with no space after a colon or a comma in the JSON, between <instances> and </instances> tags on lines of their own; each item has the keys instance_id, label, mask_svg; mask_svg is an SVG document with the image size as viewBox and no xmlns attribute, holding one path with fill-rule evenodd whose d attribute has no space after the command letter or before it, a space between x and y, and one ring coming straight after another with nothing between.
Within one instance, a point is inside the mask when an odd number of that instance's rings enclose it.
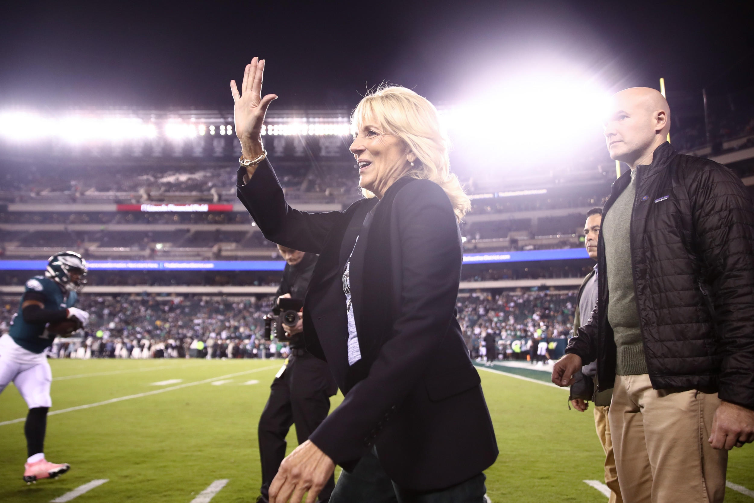
<instances>
[{"instance_id":1,"label":"bald man's head, turned to the left","mask_svg":"<svg viewBox=\"0 0 754 503\"><path fill-rule=\"evenodd\" d=\"M648 164L670 132L670 106L651 87L630 87L613 95L604 125L611 158L630 167Z\"/></svg>"}]
</instances>

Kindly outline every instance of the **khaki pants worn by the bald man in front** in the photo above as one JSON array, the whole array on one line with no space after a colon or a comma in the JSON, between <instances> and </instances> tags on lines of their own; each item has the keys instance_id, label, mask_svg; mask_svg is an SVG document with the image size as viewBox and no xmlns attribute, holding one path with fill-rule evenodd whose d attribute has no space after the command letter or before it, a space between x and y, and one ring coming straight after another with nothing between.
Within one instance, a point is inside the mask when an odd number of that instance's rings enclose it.
<instances>
[{"instance_id":1,"label":"khaki pants worn by the bald man in front","mask_svg":"<svg viewBox=\"0 0 754 503\"><path fill-rule=\"evenodd\" d=\"M626 503L719 503L728 451L707 441L717 394L654 390L648 374L616 376L609 419Z\"/></svg>"}]
</instances>

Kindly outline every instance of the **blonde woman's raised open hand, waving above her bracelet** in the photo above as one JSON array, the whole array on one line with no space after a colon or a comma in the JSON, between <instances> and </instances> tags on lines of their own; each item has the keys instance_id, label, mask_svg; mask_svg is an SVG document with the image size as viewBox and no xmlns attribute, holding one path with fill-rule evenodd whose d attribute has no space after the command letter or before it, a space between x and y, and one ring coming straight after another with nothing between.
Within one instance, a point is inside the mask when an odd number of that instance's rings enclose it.
<instances>
[{"instance_id":1,"label":"blonde woman's raised open hand, waving above her bracelet","mask_svg":"<svg viewBox=\"0 0 754 503\"><path fill-rule=\"evenodd\" d=\"M244 158L254 159L262 154L262 124L267 107L277 96L268 94L262 97L262 77L265 73L265 60L255 57L244 70L244 81L239 93L235 81L231 81L231 94L235 102L235 130Z\"/></svg>"}]
</instances>

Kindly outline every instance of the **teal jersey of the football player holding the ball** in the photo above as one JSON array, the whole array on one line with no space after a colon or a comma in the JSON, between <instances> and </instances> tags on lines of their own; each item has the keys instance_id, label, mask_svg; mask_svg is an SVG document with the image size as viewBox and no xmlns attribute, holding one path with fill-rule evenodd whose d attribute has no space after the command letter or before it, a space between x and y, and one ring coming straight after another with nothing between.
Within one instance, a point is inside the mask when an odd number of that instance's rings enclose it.
<instances>
[{"instance_id":1,"label":"teal jersey of the football player holding the ball","mask_svg":"<svg viewBox=\"0 0 754 503\"><path fill-rule=\"evenodd\" d=\"M41 293L44 295L44 308L50 310L72 308L78 298L78 294L75 292L66 291L68 294L66 296L57 283L44 276L35 276L26 281L26 290L24 290L24 293L26 292ZM23 321L23 314L21 314L22 304L23 296L21 296L18 311L11 319L10 335L17 345L20 345L27 351L39 354L45 348L52 345L55 336L48 333L47 324L31 324Z\"/></svg>"}]
</instances>

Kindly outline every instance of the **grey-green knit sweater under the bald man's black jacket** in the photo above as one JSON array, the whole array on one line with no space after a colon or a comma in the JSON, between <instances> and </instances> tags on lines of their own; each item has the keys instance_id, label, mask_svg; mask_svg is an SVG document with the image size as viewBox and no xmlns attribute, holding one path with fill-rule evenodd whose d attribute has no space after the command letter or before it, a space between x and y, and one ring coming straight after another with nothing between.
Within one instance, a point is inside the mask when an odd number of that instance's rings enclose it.
<instances>
[{"instance_id":1,"label":"grey-green knit sweater under the bald man's black jacket","mask_svg":"<svg viewBox=\"0 0 754 503\"><path fill-rule=\"evenodd\" d=\"M631 218L635 196L636 170L633 170L631 182L605 213L600 229L605 241L608 323L613 329L618 348L615 363L618 376L648 373L631 262Z\"/></svg>"}]
</instances>

